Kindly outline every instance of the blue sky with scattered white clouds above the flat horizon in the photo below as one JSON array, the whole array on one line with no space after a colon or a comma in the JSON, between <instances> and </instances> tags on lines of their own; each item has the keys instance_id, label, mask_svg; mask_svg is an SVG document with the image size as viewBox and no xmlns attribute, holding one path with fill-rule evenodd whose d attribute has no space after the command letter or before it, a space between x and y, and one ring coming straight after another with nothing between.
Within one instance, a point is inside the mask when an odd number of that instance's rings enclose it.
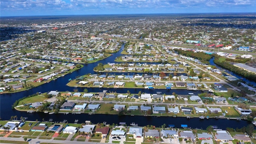
<instances>
[{"instance_id":1,"label":"blue sky with scattered white clouds above the flat horizon","mask_svg":"<svg viewBox=\"0 0 256 144\"><path fill-rule=\"evenodd\" d=\"M256 12L256 0L0 0L0 16Z\"/></svg>"}]
</instances>

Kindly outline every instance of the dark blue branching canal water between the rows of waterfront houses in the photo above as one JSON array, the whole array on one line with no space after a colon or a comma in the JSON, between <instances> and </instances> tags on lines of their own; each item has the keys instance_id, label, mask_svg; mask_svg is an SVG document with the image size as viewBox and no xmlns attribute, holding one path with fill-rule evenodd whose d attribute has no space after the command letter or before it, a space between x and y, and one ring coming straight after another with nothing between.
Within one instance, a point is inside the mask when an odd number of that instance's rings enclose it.
<instances>
[{"instance_id":1,"label":"dark blue branching canal water between the rows of waterfront houses","mask_svg":"<svg viewBox=\"0 0 256 144\"><path fill-rule=\"evenodd\" d=\"M13 93L13 94L1 94L0 96L0 114L3 120L9 120L11 116L18 116L18 118L25 117L28 118L27 120L40 120L44 118L44 120L48 120L52 118L55 122L60 122L63 120L68 120L68 122L74 122L74 120L79 120L79 123L85 122L85 120L90 120L92 123L96 124L98 122L107 122L108 124L118 124L119 122L126 122L126 124L130 124L132 122L138 123L139 126L144 125L155 125L161 126L162 124L174 124L176 127L180 127L180 124L188 124L191 128L206 128L209 125L216 125L219 128L241 128L242 126L246 126L250 122L240 120L226 120L226 119L207 119L207 120L200 120L199 118L192 118L187 120L186 118L173 118L173 117L154 117L154 116L118 116L118 115L108 115L108 114L45 114L45 113L27 113L27 112L20 112L17 110L12 110L12 104L18 100L19 98L23 98L24 96L29 96L36 92L48 92L50 90L58 90L58 91L73 91L73 87L66 86L68 80L74 79L77 76L82 76L84 74L97 74L97 72L93 71L93 68L97 66L98 63L107 64L108 62L114 62L115 58L120 56L124 45L122 45L121 50L117 53L113 54L112 56L100 60L99 62L92 63L92 64L84 64L84 67L80 70L72 72L71 74L67 74L64 77L60 77L57 80L53 80L49 83L43 84L36 88L26 90L23 92ZM212 60L212 59L211 59ZM213 60L212 60L213 61ZM212 62L213 63L213 62ZM123 72L122 72L123 73ZM124 75L128 75L128 73L124 73ZM131 75L131 73L130 73ZM133 75L133 73L132 73ZM235 75L234 75L235 76ZM78 88L80 92L84 90L84 88ZM102 92L103 90L114 91L118 93L126 93L127 89L124 88L88 88L89 92ZM176 94L188 94L189 92L193 92L194 94L201 93L202 91L190 91L190 90L166 90L166 89L129 89L131 93L138 93L139 91L145 93L156 93L158 91L162 92L162 94L172 94L175 92Z\"/></svg>"}]
</instances>

